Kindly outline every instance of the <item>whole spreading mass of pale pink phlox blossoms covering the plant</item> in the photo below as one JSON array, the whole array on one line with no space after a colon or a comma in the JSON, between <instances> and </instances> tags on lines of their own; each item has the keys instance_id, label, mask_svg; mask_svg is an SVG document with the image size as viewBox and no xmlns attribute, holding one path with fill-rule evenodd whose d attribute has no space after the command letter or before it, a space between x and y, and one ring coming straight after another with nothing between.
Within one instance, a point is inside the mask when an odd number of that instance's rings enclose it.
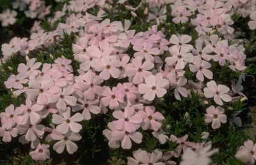
<instances>
[{"instance_id":1,"label":"whole spreading mass of pale pink phlox blossoms covering the plant","mask_svg":"<svg viewBox=\"0 0 256 165\"><path fill-rule=\"evenodd\" d=\"M39 19L48 14L49 7L42 1L26 2L30 4L30 10L25 11L27 16L34 17L41 10ZM134 8L121 0L117 4L124 2L133 17L145 5L140 3ZM245 96L241 84L245 80L246 55L240 42L230 43L235 37L231 16L250 17L249 28L255 29L255 1L146 0L146 4L150 7L145 7L143 13L146 21L155 20L161 25L169 14L173 25L191 22L196 26L196 35L166 35L166 30L158 30L157 25L136 31L131 20L107 18L111 10L116 10L111 2L77 0L54 14L50 24L58 20L57 30L45 31L34 23L30 39L14 37L3 44L3 62L13 54L27 59L27 64L17 67L17 75L10 75L4 83L7 89L14 89L14 95L25 94L26 101L16 108L11 104L0 113L3 141L10 142L19 134L19 142L31 142L31 148L36 149L30 152L34 160L49 158L49 145L41 145L42 139L54 140L52 148L58 154L65 148L73 154L78 149L74 142L82 139L83 121L92 119L94 114L108 113L113 119L103 133L110 148L131 149L133 142L143 142L143 131L152 133L161 144L168 141L177 145L164 154L158 149L152 153L139 149L134 151L134 158L128 157L128 164L176 164L170 160L172 157L181 157L181 164L211 163L209 157L217 152L211 150L211 142L190 142L187 134L178 138L166 132L162 127L166 116L157 102L167 94L183 101L197 93L211 103L206 108L205 123L218 129L227 122L226 103L234 101L233 94ZM96 14L90 10L93 7L97 7ZM64 21L62 16L66 17ZM75 38L71 46L74 60L65 54L55 58L53 64L28 58L35 50L62 42L63 32ZM78 70L73 70L73 64L79 66ZM217 81L213 71L216 67L236 73L234 78L239 80L229 84ZM47 116L51 116L48 122L54 125L43 125ZM204 132L202 139L207 137Z\"/></svg>"}]
</instances>

